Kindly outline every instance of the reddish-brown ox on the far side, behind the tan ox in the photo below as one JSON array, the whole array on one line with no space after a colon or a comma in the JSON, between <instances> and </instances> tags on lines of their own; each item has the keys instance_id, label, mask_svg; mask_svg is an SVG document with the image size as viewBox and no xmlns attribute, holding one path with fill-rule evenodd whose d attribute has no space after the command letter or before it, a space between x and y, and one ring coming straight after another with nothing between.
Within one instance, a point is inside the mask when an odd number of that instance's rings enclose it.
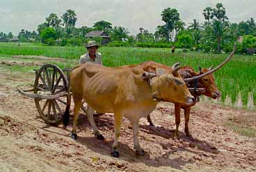
<instances>
[{"instance_id":1,"label":"reddish-brown ox on the far side, behind the tan ox","mask_svg":"<svg viewBox=\"0 0 256 172\"><path fill-rule=\"evenodd\" d=\"M199 101L200 95L205 95L211 98L219 98L221 97L221 92L218 91L217 86L214 83L214 76L212 76L212 73L214 71L217 71L223 65L225 65L234 55L234 51L236 50L236 45L234 46L234 50L230 54L230 56L221 63L221 65L218 65L215 69L209 69L199 67L199 71L195 72L192 67L186 66L186 67L179 67L177 70L176 75L182 76L184 78L184 81L186 81L186 85L191 89L191 94L195 97L196 101L191 105L184 105L182 103L175 103L175 123L176 123L176 130L174 137L179 136L179 123L180 123L180 110L184 109L184 119L185 119L185 129L184 132L186 133L186 136L191 137L191 133L189 132L189 115L191 111L191 106L195 105ZM168 67L166 65L159 64L157 62L143 62L141 64L141 67L145 71L155 71L157 68L165 69L169 73L173 72L173 67ZM150 123L150 126L154 126L152 123L152 120L150 118L150 115L147 116L147 121Z\"/></svg>"}]
</instances>

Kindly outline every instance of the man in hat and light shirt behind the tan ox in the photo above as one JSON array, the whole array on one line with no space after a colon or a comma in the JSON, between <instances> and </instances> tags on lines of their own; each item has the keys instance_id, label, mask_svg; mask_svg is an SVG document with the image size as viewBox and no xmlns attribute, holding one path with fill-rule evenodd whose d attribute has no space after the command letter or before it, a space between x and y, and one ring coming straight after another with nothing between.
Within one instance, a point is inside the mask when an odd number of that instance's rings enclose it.
<instances>
[{"instance_id":1,"label":"man in hat and light shirt behind the tan ox","mask_svg":"<svg viewBox=\"0 0 256 172\"><path fill-rule=\"evenodd\" d=\"M85 62L93 62L98 65L102 65L102 54L97 52L99 45L95 41L89 41L86 44L86 49L88 53L81 55L79 59L79 64L83 64Z\"/></svg>"}]
</instances>

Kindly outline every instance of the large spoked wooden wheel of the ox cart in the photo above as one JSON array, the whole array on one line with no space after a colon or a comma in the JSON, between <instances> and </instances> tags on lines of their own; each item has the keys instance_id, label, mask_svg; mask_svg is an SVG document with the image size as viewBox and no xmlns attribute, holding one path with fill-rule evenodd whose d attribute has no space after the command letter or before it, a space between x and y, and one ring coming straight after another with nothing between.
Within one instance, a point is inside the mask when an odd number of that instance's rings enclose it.
<instances>
[{"instance_id":1,"label":"large spoked wooden wheel of the ox cart","mask_svg":"<svg viewBox=\"0 0 256 172\"><path fill-rule=\"evenodd\" d=\"M43 65L35 76L34 93L44 95L54 95L67 92L67 79L63 71L56 65ZM35 106L40 117L49 125L58 125L62 121L67 96L55 99L35 98Z\"/></svg>"}]
</instances>

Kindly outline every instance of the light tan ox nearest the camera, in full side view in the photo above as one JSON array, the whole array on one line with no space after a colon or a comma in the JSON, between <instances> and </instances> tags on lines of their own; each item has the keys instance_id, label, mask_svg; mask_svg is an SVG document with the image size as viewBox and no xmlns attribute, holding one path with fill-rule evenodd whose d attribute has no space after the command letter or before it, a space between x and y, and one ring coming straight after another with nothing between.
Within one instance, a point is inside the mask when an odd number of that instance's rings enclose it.
<instances>
[{"instance_id":1,"label":"light tan ox nearest the camera, in full side view","mask_svg":"<svg viewBox=\"0 0 256 172\"><path fill-rule=\"evenodd\" d=\"M161 70L159 70L161 71ZM138 141L138 121L147 117L157 105L157 100L190 105L193 96L187 89L182 78L172 74L161 74L157 70L154 78L148 83L148 74L140 66L102 67L90 62L80 65L70 74L68 94L72 89L74 100L74 123L72 137L77 139L77 117L82 101L88 103L88 120L95 131L95 135L102 139L102 135L95 126L93 112L111 112L114 114L115 137L111 155L118 157L118 137L122 117L131 121L134 132L134 148L138 155L144 155ZM67 96L67 108L63 116L63 124L67 126L70 110L70 96Z\"/></svg>"}]
</instances>

